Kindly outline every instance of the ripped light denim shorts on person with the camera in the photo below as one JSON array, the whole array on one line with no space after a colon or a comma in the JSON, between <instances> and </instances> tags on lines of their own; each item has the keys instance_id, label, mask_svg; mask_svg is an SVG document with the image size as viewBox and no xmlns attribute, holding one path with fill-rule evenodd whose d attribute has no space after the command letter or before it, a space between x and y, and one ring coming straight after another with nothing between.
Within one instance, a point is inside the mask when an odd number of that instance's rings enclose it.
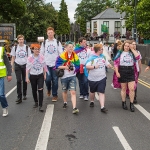
<instances>
[{"instance_id":1,"label":"ripped light denim shorts on person with the camera","mask_svg":"<svg viewBox=\"0 0 150 150\"><path fill-rule=\"evenodd\" d=\"M67 90L76 91L76 76L61 79L61 85L63 91Z\"/></svg>"}]
</instances>

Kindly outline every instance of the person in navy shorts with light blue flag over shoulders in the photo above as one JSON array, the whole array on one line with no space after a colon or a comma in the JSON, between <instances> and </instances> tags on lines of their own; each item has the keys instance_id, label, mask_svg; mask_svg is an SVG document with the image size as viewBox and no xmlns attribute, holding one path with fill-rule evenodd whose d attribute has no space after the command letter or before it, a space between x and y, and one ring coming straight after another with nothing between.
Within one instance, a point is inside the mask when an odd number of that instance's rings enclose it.
<instances>
[{"instance_id":1,"label":"person in navy shorts with light blue flag over shoulders","mask_svg":"<svg viewBox=\"0 0 150 150\"><path fill-rule=\"evenodd\" d=\"M105 108L105 88L106 88L106 70L105 67L112 67L107 58L103 55L103 45L94 46L94 54L86 62L85 74L88 76L90 86L90 107L94 107L95 92L98 92L101 112L106 113ZM89 73L87 71L89 70Z\"/></svg>"}]
</instances>

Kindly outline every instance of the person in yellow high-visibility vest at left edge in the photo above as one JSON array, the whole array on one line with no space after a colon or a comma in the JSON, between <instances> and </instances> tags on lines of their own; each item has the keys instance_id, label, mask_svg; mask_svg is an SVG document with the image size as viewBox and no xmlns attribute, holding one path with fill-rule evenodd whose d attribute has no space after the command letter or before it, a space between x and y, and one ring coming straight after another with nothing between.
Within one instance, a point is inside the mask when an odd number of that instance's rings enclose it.
<instances>
[{"instance_id":1,"label":"person in yellow high-visibility vest at left edge","mask_svg":"<svg viewBox=\"0 0 150 150\"><path fill-rule=\"evenodd\" d=\"M0 47L0 103L3 108L3 117L8 115L8 102L5 96L4 78L7 76L7 81L12 80L12 68L7 58L4 47Z\"/></svg>"}]
</instances>

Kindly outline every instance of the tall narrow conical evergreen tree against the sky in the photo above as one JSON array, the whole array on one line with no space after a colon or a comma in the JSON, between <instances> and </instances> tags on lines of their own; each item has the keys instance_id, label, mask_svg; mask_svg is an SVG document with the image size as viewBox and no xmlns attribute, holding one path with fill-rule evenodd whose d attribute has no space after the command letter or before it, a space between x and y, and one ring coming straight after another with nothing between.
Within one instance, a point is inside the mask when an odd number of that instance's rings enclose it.
<instances>
[{"instance_id":1,"label":"tall narrow conical evergreen tree against the sky","mask_svg":"<svg viewBox=\"0 0 150 150\"><path fill-rule=\"evenodd\" d=\"M64 0L60 3L60 10L58 13L58 26L57 34L69 34L70 33L70 20L68 17L68 9Z\"/></svg>"}]
</instances>

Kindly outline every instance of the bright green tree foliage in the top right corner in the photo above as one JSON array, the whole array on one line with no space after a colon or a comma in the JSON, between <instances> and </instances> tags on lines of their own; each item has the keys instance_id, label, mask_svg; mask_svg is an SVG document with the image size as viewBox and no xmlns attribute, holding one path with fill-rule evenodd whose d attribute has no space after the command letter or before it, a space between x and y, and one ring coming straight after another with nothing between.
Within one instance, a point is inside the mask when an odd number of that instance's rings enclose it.
<instances>
[{"instance_id":1,"label":"bright green tree foliage in the top right corner","mask_svg":"<svg viewBox=\"0 0 150 150\"><path fill-rule=\"evenodd\" d=\"M126 28L131 30L134 28L134 24L136 23L137 32L146 39L150 38L150 1L116 0L115 6L117 11L126 12ZM136 22L134 21L135 14Z\"/></svg>"}]
</instances>

